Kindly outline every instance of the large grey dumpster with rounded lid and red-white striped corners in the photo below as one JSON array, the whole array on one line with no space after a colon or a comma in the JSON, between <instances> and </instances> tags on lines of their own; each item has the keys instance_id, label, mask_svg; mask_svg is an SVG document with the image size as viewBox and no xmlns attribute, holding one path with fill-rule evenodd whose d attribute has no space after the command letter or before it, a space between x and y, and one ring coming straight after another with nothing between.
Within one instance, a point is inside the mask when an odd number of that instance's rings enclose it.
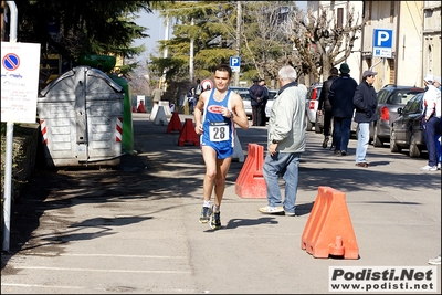
<instances>
[{"instance_id":1,"label":"large grey dumpster with rounded lid and red-white striped corners","mask_svg":"<svg viewBox=\"0 0 442 295\"><path fill-rule=\"evenodd\" d=\"M53 80L36 102L46 166L118 166L123 99L123 87L91 66Z\"/></svg>"}]
</instances>

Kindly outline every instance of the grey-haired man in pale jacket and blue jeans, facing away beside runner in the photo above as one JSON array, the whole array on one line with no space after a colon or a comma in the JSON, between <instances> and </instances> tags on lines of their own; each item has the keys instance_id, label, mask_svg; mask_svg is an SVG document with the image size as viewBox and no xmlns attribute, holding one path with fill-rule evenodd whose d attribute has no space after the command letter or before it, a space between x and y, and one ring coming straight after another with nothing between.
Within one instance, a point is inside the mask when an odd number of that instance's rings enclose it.
<instances>
[{"instance_id":1,"label":"grey-haired man in pale jacket and blue jeans, facing away beside runner","mask_svg":"<svg viewBox=\"0 0 442 295\"><path fill-rule=\"evenodd\" d=\"M298 85L295 69L278 71L281 89L273 103L267 127L267 154L263 175L267 186L267 206L261 213L295 215L301 154L305 150L305 96L307 88ZM280 175L285 180L285 198L281 200Z\"/></svg>"}]
</instances>

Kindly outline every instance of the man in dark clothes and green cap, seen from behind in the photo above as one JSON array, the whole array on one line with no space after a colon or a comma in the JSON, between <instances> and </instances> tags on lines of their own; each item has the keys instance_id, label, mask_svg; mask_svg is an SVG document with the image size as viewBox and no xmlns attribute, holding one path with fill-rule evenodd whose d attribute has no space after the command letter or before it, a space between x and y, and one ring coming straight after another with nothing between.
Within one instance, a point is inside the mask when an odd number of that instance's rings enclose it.
<instances>
[{"instance_id":1,"label":"man in dark clothes and green cap, seen from behind","mask_svg":"<svg viewBox=\"0 0 442 295\"><path fill-rule=\"evenodd\" d=\"M333 143L335 154L347 155L350 140L351 118L355 110L352 97L358 83L350 77L350 67L343 63L339 67L340 76L336 78L328 94L333 108Z\"/></svg>"}]
</instances>

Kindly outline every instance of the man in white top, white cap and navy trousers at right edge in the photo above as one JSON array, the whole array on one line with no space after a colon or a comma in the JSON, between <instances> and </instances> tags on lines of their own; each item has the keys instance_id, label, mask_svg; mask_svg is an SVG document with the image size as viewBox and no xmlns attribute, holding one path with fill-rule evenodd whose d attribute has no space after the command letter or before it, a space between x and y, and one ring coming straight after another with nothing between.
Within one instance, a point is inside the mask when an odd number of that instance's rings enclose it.
<instances>
[{"instance_id":1,"label":"man in white top, white cap and navy trousers at right edge","mask_svg":"<svg viewBox=\"0 0 442 295\"><path fill-rule=\"evenodd\" d=\"M429 154L428 165L421 167L422 171L438 171L438 151L435 136L441 134L441 92L433 85L434 76L425 75L423 83L427 91L423 95L423 122L422 128L425 137L427 150ZM438 107L439 101L439 107ZM439 112L438 112L439 109Z\"/></svg>"}]
</instances>

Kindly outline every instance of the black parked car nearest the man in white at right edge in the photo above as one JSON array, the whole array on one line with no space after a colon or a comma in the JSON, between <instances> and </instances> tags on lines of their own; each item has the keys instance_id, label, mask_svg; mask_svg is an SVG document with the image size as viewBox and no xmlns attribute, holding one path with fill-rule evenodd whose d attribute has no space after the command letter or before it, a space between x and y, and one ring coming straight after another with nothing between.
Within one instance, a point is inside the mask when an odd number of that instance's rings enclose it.
<instances>
[{"instance_id":1,"label":"black parked car nearest the man in white at right edge","mask_svg":"<svg viewBox=\"0 0 442 295\"><path fill-rule=\"evenodd\" d=\"M397 109L399 117L393 120L390 128L390 150L399 152L408 149L412 158L420 157L427 149L422 130L422 102L423 93L414 95L407 105Z\"/></svg>"}]
</instances>

